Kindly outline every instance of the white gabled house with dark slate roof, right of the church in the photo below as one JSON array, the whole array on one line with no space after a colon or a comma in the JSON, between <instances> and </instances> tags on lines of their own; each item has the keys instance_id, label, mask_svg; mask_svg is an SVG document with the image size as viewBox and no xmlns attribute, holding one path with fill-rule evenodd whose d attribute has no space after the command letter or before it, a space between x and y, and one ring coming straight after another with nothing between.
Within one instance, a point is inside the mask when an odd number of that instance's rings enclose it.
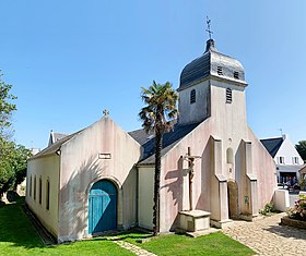
<instances>
[{"instance_id":1,"label":"white gabled house with dark slate roof, right of the church","mask_svg":"<svg viewBox=\"0 0 306 256\"><path fill-rule=\"evenodd\" d=\"M260 139L262 145L270 153L276 164L276 174L279 183L290 182L291 185L297 183L299 170L304 164L302 157L295 149L289 135L281 137Z\"/></svg>"}]
</instances>

